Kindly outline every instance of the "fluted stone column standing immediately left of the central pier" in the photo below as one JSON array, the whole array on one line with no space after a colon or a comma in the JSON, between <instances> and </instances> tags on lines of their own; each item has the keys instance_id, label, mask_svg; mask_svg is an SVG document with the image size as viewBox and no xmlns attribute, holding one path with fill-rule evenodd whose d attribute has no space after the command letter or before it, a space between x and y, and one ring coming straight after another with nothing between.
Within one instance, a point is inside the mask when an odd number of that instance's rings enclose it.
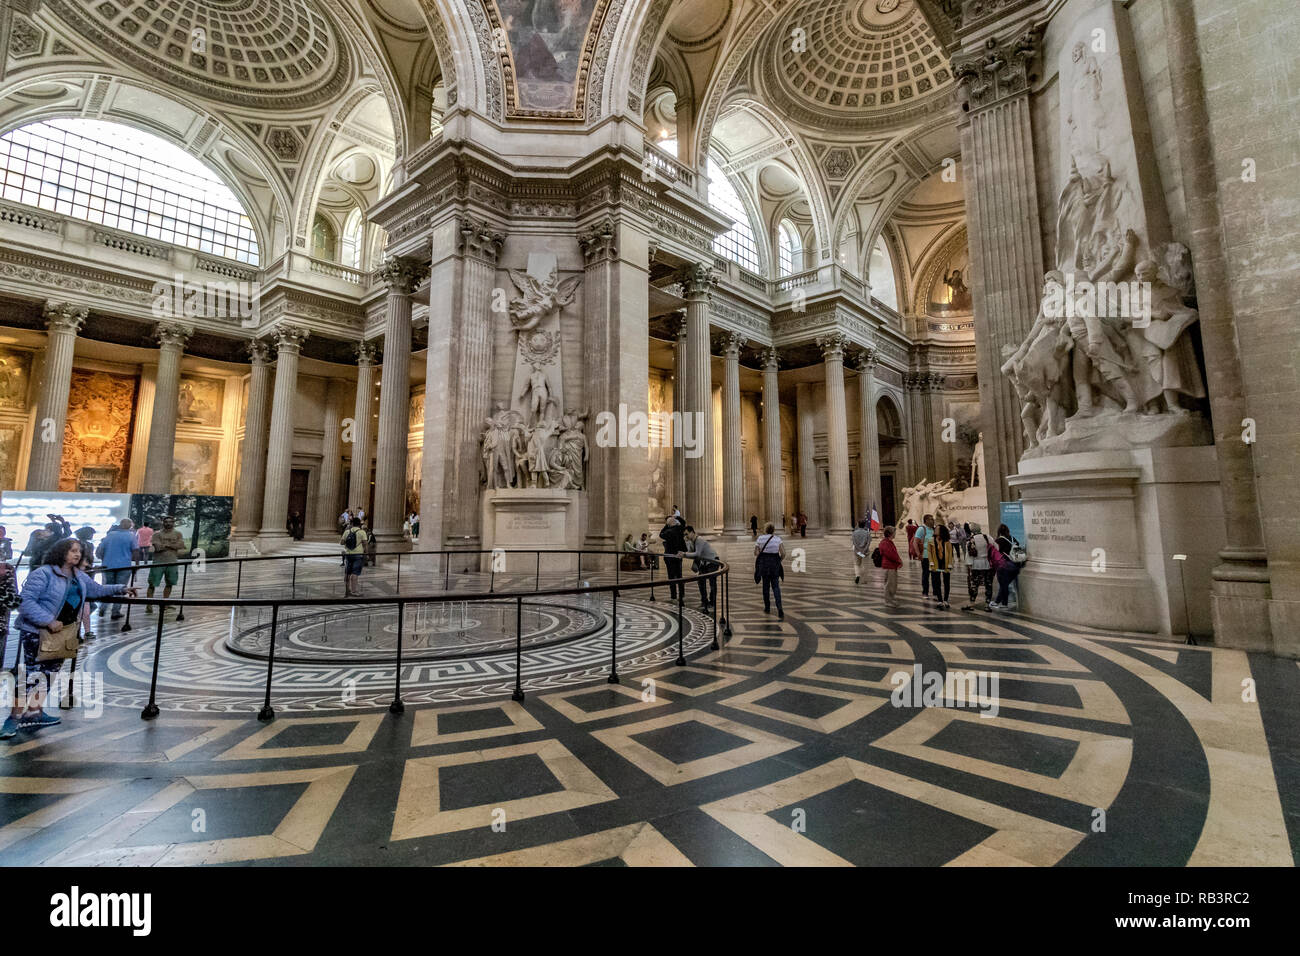
<instances>
[{"instance_id":1,"label":"fluted stone column standing immediately left of the central pier","mask_svg":"<svg viewBox=\"0 0 1300 956\"><path fill-rule=\"evenodd\" d=\"M425 274L422 263L393 259L378 271L387 287L384 319L384 378L380 429L374 449L374 515L370 527L380 549L398 548L406 510L407 434L411 423L411 293ZM462 386L465 380L462 378Z\"/></svg>"}]
</instances>

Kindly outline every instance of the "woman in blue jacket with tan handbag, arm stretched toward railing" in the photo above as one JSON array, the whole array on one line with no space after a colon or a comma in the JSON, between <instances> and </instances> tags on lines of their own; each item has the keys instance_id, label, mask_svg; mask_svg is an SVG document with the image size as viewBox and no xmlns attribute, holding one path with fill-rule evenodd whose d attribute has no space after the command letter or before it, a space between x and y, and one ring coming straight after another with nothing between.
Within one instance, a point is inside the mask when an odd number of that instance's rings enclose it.
<instances>
[{"instance_id":1,"label":"woman in blue jacket with tan handbag, arm stretched toward railing","mask_svg":"<svg viewBox=\"0 0 1300 956\"><path fill-rule=\"evenodd\" d=\"M18 730L53 727L60 718L43 710L49 683L64 661L77 656L81 646L82 604L100 597L127 594L135 589L126 584L99 584L81 570L82 544L64 538L49 546L44 563L27 575L18 605L21 652L27 672L26 713L17 692L13 711L0 730L0 739L12 737ZM14 670L17 671L17 659Z\"/></svg>"}]
</instances>

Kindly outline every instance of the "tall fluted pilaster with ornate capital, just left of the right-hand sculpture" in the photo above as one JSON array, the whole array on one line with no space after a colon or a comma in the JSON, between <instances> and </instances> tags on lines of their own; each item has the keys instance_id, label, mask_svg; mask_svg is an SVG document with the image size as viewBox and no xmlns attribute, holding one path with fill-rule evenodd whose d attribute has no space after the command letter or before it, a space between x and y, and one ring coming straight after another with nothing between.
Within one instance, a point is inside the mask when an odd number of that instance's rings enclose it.
<instances>
[{"instance_id":1,"label":"tall fluted pilaster with ornate capital, just left of the right-hand sculpture","mask_svg":"<svg viewBox=\"0 0 1300 956\"><path fill-rule=\"evenodd\" d=\"M988 512L1010 501L1008 475L1024 451L1019 402L1001 372L1002 346L1019 345L1043 287L1043 235L1028 91L1039 73L1040 31L953 57L959 85L962 178L970 234L971 300ZM1053 135L1056 133L1053 131ZM913 480L939 475L914 475Z\"/></svg>"}]
</instances>

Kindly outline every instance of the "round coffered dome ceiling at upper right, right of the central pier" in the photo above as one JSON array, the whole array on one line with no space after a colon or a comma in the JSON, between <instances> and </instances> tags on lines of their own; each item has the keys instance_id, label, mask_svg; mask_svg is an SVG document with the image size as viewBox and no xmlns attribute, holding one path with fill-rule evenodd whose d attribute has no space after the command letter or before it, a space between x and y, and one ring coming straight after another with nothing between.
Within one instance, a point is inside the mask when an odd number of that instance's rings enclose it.
<instances>
[{"instance_id":1,"label":"round coffered dome ceiling at upper right, right of the central pier","mask_svg":"<svg viewBox=\"0 0 1300 956\"><path fill-rule=\"evenodd\" d=\"M910 121L953 90L948 57L915 0L800 4L772 30L759 62L772 105L812 127Z\"/></svg>"}]
</instances>

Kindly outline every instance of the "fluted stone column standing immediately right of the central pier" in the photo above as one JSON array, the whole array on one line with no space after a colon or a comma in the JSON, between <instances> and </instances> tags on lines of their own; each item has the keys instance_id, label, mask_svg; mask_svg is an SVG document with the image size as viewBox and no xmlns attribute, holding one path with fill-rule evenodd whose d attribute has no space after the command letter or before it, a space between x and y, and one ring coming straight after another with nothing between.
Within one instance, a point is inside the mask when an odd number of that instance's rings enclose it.
<instances>
[{"instance_id":1,"label":"fluted stone column standing immediately right of the central pier","mask_svg":"<svg viewBox=\"0 0 1300 956\"><path fill-rule=\"evenodd\" d=\"M714 518L714 402L712 356L708 349L708 302L716 285L705 263L681 273L686 299L686 343L682 362L682 416L692 416L698 441L686 458L686 494L677 506L696 528L712 528Z\"/></svg>"}]
</instances>

